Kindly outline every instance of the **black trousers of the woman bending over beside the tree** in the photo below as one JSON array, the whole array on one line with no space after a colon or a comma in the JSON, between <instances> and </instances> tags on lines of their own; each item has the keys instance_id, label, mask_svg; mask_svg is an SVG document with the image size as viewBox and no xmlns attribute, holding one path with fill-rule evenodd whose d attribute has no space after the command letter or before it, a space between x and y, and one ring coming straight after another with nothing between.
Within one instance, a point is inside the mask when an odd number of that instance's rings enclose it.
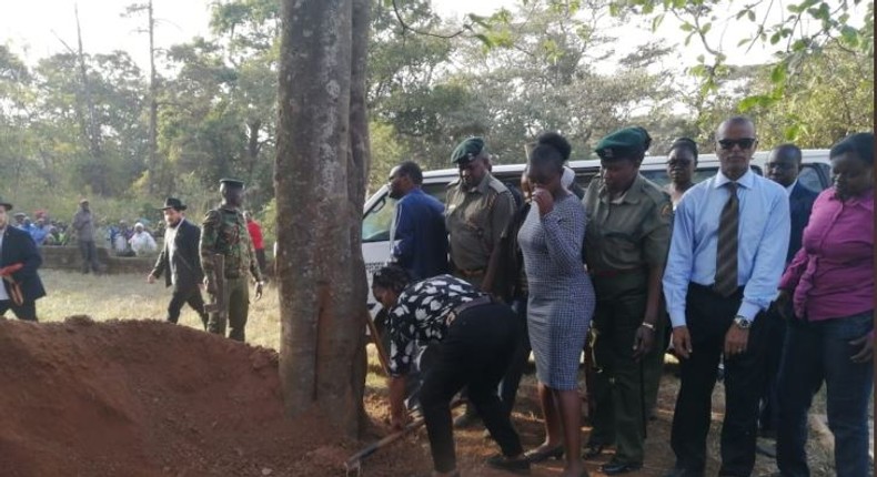
<instances>
[{"instance_id":1,"label":"black trousers of the woman bending over beside the tree","mask_svg":"<svg viewBox=\"0 0 877 477\"><path fill-rule=\"evenodd\" d=\"M435 470L456 468L451 398L468 386L468 400L506 456L523 451L521 439L496 394L521 341L515 313L502 304L473 306L451 324L426 371L421 406Z\"/></svg>"}]
</instances>

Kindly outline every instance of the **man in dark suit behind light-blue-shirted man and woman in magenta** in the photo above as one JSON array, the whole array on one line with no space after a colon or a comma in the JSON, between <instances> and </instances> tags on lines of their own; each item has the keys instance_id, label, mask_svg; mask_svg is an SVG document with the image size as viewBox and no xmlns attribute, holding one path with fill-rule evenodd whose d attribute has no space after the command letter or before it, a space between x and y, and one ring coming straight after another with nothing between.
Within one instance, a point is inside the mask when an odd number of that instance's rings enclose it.
<instances>
[{"instance_id":1,"label":"man in dark suit behind light-blue-shirted man and woman in magenta","mask_svg":"<svg viewBox=\"0 0 877 477\"><path fill-rule=\"evenodd\" d=\"M802 168L800 149L795 144L782 144L770 151L765 164L765 173L768 179L786 187L788 193L789 212L792 227L788 240L788 253L786 254L786 265L792 262L792 257L800 248L804 227L810 220L813 203L816 201L817 192L805 187L798 182L798 174ZM758 427L762 437L775 438L777 425L776 406L776 376L779 369L779 359L783 355L783 343L786 337L786 322L770 309L768 314L767 328L767 353L765 356L765 387L762 394L762 410L758 417ZM770 457L774 450L758 446L758 451Z\"/></svg>"}]
</instances>

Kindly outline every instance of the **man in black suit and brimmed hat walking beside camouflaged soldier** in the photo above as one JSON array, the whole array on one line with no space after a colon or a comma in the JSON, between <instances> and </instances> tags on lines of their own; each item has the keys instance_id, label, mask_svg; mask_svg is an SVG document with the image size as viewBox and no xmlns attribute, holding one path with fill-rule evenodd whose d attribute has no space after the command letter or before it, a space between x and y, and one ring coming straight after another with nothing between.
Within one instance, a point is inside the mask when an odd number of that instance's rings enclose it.
<instances>
[{"instance_id":1,"label":"man in black suit and brimmed hat walking beside camouflaged soldier","mask_svg":"<svg viewBox=\"0 0 877 477\"><path fill-rule=\"evenodd\" d=\"M179 199L168 197L164 201L164 206L161 207L164 222L168 224L164 230L164 246L159 260L155 261L155 266L147 276L147 282L155 283L155 278L167 270L164 284L173 285L173 295L168 305L168 321L177 323L180 318L180 309L188 303L201 316L206 329L208 314L204 312L204 298L201 296L204 273L201 271L201 256L198 253L201 229L185 220L182 213L185 209L187 206Z\"/></svg>"}]
</instances>

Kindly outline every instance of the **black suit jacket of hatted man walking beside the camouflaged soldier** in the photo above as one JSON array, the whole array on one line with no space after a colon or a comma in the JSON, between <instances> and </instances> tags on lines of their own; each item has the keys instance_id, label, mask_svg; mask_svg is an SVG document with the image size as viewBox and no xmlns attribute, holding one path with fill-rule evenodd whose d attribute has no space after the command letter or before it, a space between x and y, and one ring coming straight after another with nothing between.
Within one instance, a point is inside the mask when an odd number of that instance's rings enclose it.
<instances>
[{"instance_id":1,"label":"black suit jacket of hatted man walking beside the camouflaged soldier","mask_svg":"<svg viewBox=\"0 0 877 477\"><path fill-rule=\"evenodd\" d=\"M173 273L177 275L174 277L177 287L179 288L201 283L204 280L204 272L201 270L201 255L198 253L198 242L200 240L201 229L183 219L178 225L173 241L173 256L170 256L171 253L165 240L159 260L155 261L155 266L152 268L152 275L159 277L167 270L164 284L171 286L171 270L173 270ZM173 261L173 268L170 266L171 261Z\"/></svg>"}]
</instances>

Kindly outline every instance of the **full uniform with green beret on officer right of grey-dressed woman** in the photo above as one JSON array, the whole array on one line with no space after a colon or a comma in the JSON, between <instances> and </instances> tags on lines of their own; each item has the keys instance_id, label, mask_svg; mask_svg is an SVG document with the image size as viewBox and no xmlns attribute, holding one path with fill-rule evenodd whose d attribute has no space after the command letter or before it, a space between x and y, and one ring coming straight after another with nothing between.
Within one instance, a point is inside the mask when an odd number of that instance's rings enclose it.
<instances>
[{"instance_id":1,"label":"full uniform with green beret on officer right of grey-dressed woman","mask_svg":"<svg viewBox=\"0 0 877 477\"><path fill-rule=\"evenodd\" d=\"M642 128L626 128L604 138L596 148L604 164L616 160L642 161L651 138ZM637 363L633 345L642 327L656 332L663 313L645 323L649 271L667 258L673 205L669 195L636 173L626 191L607 190L595 179L584 199L587 229L585 261L597 296L593 321L595 367L592 398L597 412L591 435L592 455L615 443L617 450L606 474L623 474L643 464L646 398L644 382L661 368L645 371L649 355ZM654 292L653 292L654 293ZM661 293L659 290L656 293ZM663 327L663 326L662 326ZM663 355L657 336L652 353ZM652 354L649 353L649 354ZM645 376L647 374L648 376ZM612 471L612 470L621 471Z\"/></svg>"}]
</instances>

